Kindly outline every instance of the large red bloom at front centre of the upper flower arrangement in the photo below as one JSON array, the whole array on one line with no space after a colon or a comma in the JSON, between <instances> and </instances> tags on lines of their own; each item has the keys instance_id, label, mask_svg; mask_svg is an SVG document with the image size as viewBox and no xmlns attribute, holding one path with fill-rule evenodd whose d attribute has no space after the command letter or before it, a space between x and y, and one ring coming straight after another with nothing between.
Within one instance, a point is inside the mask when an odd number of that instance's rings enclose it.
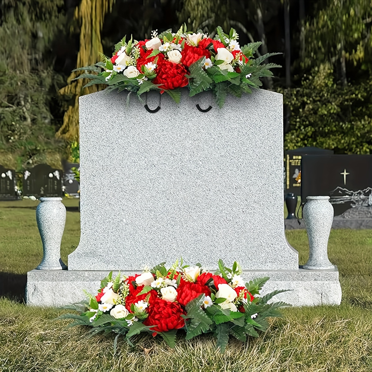
<instances>
[{"instance_id":1,"label":"large red bloom at front centre of the upper flower arrangement","mask_svg":"<svg viewBox=\"0 0 372 372\"><path fill-rule=\"evenodd\" d=\"M149 58L150 59L150 58ZM160 89L175 89L185 87L189 81L185 77L186 68L180 63L164 61L156 68L154 84L161 84Z\"/></svg>"}]
</instances>

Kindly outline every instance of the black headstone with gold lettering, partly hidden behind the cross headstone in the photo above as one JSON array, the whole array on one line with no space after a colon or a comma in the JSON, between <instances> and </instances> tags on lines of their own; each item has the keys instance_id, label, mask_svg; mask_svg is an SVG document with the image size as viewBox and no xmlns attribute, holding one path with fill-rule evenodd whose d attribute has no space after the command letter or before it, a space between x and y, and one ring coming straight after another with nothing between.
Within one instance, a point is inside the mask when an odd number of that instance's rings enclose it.
<instances>
[{"instance_id":1,"label":"black headstone with gold lettering, partly hidden behind the cross headstone","mask_svg":"<svg viewBox=\"0 0 372 372\"><path fill-rule=\"evenodd\" d=\"M301 158L303 155L331 155L332 150L318 147L301 147L288 150L284 153L284 194L294 193L301 195L301 180L296 180L301 171ZM302 176L302 172L301 172Z\"/></svg>"}]
</instances>

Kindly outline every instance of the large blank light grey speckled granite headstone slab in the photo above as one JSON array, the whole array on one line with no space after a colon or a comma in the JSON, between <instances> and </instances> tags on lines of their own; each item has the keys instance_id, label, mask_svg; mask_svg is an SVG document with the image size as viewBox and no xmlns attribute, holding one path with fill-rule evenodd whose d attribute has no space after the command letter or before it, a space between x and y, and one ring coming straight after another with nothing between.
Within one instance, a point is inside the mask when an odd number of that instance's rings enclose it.
<instances>
[{"instance_id":1,"label":"large blank light grey speckled granite headstone slab","mask_svg":"<svg viewBox=\"0 0 372 372\"><path fill-rule=\"evenodd\" d=\"M246 270L298 269L283 222L282 95L164 93L149 113L126 94L80 97L81 239L69 270L221 258ZM151 109L159 95L148 97ZM203 113L196 108L212 109Z\"/></svg>"}]
</instances>

